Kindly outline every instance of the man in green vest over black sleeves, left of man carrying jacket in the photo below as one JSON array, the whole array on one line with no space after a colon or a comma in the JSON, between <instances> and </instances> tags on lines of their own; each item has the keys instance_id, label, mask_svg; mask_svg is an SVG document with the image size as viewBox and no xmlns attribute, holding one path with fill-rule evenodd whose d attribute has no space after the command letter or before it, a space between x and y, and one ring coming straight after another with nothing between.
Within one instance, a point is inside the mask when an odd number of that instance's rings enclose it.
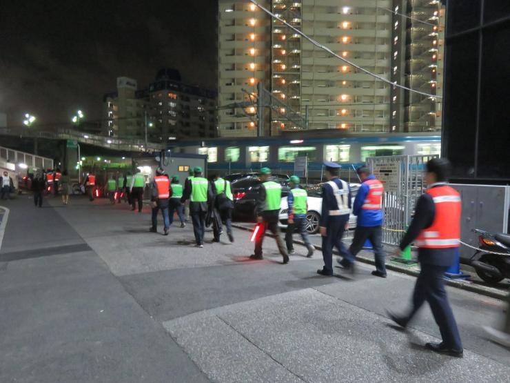
<instances>
[{"instance_id":1,"label":"man in green vest over black sleeves, left of man carrying jacket","mask_svg":"<svg viewBox=\"0 0 510 383\"><path fill-rule=\"evenodd\" d=\"M202 177L202 168L194 168L194 177L190 178L184 186L181 202L190 199L190 213L193 222L196 247L203 248L205 234L205 215L207 214L207 201L212 199L212 189L209 181Z\"/></svg>"}]
</instances>

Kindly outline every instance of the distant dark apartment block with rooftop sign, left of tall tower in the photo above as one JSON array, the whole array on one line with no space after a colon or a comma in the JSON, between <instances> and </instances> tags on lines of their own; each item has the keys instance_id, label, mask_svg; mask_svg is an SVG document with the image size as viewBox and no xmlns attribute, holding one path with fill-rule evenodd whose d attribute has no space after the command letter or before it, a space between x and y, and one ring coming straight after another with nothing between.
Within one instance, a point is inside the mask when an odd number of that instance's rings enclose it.
<instances>
[{"instance_id":1,"label":"distant dark apartment block with rooftop sign, left of tall tower","mask_svg":"<svg viewBox=\"0 0 510 383\"><path fill-rule=\"evenodd\" d=\"M216 91L181 82L179 71L164 68L148 88L117 78L116 92L103 96L103 130L111 137L153 142L181 137L216 137Z\"/></svg>"}]
</instances>

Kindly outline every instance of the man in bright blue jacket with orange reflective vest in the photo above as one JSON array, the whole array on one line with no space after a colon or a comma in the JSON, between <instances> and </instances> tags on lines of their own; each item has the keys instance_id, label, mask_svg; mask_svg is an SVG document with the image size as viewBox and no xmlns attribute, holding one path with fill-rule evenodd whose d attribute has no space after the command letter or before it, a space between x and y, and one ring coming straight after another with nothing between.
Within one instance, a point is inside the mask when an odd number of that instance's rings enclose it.
<instances>
[{"instance_id":1,"label":"man in bright blue jacket with orange reflective vest","mask_svg":"<svg viewBox=\"0 0 510 383\"><path fill-rule=\"evenodd\" d=\"M339 263L345 268L349 268L367 239L369 239L376 258L376 270L372 271L371 274L385 278L387 273L383 251L384 215L382 209L384 186L381 181L370 173L370 169L366 166L360 166L356 173L358 173L362 183L354 199L352 213L358 216L358 220L354 230L354 239L352 239L352 244L349 247L349 255Z\"/></svg>"}]
</instances>

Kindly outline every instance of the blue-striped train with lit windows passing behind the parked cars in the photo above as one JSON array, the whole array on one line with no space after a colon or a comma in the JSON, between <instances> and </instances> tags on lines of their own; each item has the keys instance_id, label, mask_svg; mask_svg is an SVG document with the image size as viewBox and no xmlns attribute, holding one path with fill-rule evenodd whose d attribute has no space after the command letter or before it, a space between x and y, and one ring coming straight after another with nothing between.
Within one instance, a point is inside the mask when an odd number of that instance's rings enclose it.
<instances>
[{"instance_id":1,"label":"blue-striped train with lit windows passing behind the parked cars","mask_svg":"<svg viewBox=\"0 0 510 383\"><path fill-rule=\"evenodd\" d=\"M292 173L298 156L306 156L309 177L319 177L323 161L354 169L367 157L440 154L439 132L353 133L331 130L286 132L277 137L214 138L174 142L174 153L207 155L211 172L256 172L268 166L277 173Z\"/></svg>"}]
</instances>

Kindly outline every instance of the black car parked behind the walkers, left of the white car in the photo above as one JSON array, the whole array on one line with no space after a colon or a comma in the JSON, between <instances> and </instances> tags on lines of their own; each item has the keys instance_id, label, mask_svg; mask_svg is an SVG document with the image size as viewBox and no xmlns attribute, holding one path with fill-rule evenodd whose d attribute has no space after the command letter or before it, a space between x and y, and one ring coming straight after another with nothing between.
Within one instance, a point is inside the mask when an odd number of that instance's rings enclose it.
<instances>
[{"instance_id":1,"label":"black car parked behind the walkers, left of the white car","mask_svg":"<svg viewBox=\"0 0 510 383\"><path fill-rule=\"evenodd\" d=\"M287 179L271 179L282 186L282 197L289 194L289 182ZM234 195L234 218L254 220L255 206L258 198L258 190L261 188L261 180L258 177L245 177L232 181L232 194Z\"/></svg>"}]
</instances>

